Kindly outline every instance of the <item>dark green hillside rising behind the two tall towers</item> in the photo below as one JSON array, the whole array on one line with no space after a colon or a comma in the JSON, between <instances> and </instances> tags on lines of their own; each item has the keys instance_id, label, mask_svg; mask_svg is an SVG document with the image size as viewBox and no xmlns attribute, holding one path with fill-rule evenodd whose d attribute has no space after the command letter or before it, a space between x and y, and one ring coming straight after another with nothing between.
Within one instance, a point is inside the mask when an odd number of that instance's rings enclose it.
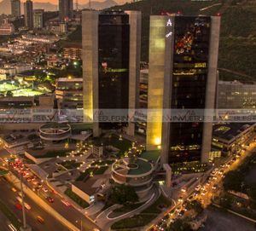
<instances>
[{"instance_id":1,"label":"dark green hillside rising behind the two tall towers","mask_svg":"<svg viewBox=\"0 0 256 231\"><path fill-rule=\"evenodd\" d=\"M201 11L200 9L209 9ZM148 61L149 15L163 11L181 11L184 15L220 13L221 38L219 47L220 78L256 81L256 1L213 0L143 0L127 3L112 9L139 10L143 12L142 60ZM229 72L223 71L228 69Z\"/></svg>"}]
</instances>

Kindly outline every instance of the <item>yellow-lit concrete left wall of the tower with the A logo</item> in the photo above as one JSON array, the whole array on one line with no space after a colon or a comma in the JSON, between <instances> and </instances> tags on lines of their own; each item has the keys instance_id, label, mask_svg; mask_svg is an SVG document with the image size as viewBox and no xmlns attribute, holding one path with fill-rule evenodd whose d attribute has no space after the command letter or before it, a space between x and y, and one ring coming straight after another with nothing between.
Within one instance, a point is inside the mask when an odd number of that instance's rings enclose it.
<instances>
[{"instance_id":1,"label":"yellow-lit concrete left wall of the tower with the A logo","mask_svg":"<svg viewBox=\"0 0 256 231\"><path fill-rule=\"evenodd\" d=\"M155 150L161 144L162 107L165 78L166 19L150 17L147 149Z\"/></svg>"}]
</instances>

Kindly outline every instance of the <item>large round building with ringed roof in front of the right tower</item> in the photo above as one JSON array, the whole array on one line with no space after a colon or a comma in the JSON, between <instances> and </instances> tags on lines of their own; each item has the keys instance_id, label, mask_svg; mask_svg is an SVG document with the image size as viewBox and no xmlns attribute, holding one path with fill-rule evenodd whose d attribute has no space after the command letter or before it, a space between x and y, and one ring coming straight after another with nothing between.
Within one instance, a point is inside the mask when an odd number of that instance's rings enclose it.
<instances>
[{"instance_id":1,"label":"large round building with ringed roof in front of the right tower","mask_svg":"<svg viewBox=\"0 0 256 231\"><path fill-rule=\"evenodd\" d=\"M135 188L137 195L143 198L152 188L154 166L146 159L119 159L112 165L112 178L118 184L127 184Z\"/></svg>"}]
</instances>

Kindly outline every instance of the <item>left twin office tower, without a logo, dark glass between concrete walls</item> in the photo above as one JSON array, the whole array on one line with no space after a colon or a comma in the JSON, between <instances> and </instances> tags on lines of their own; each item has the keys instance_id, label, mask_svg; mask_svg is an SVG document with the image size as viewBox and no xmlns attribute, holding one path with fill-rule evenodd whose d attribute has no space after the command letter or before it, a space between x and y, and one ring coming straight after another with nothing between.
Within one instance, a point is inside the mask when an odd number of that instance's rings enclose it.
<instances>
[{"instance_id":1,"label":"left twin office tower, without a logo, dark glass between concrete walls","mask_svg":"<svg viewBox=\"0 0 256 231\"><path fill-rule=\"evenodd\" d=\"M141 13L87 10L82 21L84 118L93 119L98 136L102 129L126 124L97 123L94 110L122 109L125 114L137 107ZM127 133L133 135L134 124L129 123Z\"/></svg>"}]
</instances>

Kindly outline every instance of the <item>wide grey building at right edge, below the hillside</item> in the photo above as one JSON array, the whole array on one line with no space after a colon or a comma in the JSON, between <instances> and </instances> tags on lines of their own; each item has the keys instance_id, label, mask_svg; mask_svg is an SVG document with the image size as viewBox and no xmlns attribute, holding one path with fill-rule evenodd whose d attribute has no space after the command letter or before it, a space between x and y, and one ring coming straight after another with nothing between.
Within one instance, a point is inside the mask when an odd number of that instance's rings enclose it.
<instances>
[{"instance_id":1,"label":"wide grey building at right edge, below the hillside","mask_svg":"<svg viewBox=\"0 0 256 231\"><path fill-rule=\"evenodd\" d=\"M218 108L256 108L256 84L218 81Z\"/></svg>"}]
</instances>

